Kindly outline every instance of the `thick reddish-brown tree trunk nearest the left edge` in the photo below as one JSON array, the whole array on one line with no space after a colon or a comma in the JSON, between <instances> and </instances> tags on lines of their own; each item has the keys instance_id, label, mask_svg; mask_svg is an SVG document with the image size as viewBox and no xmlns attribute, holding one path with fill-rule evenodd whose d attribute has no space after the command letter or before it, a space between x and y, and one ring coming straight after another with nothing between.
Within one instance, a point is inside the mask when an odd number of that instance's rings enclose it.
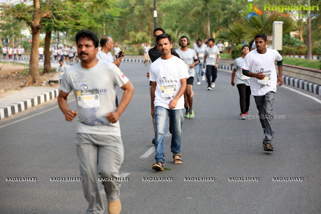
<instances>
[{"instance_id":1,"label":"thick reddish-brown tree trunk nearest the left edge","mask_svg":"<svg viewBox=\"0 0 321 214\"><path fill-rule=\"evenodd\" d=\"M31 42L31 53L30 53L30 61L29 61L29 76L26 82L26 86L35 84L39 81L39 43L40 43L40 17L39 17L39 9L40 2L39 0L34 0L34 12L32 15L32 20L30 22L31 34L32 34L32 42Z\"/></svg>"}]
</instances>

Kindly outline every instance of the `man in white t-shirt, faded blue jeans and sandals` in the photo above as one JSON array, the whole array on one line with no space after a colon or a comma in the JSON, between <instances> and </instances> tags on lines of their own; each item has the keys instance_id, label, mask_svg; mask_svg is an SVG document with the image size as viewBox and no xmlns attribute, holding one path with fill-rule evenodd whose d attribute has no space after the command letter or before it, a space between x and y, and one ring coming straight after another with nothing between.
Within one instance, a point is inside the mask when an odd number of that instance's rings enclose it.
<instances>
[{"instance_id":1,"label":"man in white t-shirt, faded blue jeans and sandals","mask_svg":"<svg viewBox=\"0 0 321 214\"><path fill-rule=\"evenodd\" d=\"M156 44L160 58L155 60L149 69L149 80L152 81L152 117L155 118L155 150L156 163L152 169L164 170L165 164L165 134L167 116L169 114L172 127L170 150L173 153L174 164L183 163L181 159L181 139L183 125L183 94L186 90L186 78L189 77L185 63L171 54L172 38L163 33L157 36Z\"/></svg>"}]
</instances>

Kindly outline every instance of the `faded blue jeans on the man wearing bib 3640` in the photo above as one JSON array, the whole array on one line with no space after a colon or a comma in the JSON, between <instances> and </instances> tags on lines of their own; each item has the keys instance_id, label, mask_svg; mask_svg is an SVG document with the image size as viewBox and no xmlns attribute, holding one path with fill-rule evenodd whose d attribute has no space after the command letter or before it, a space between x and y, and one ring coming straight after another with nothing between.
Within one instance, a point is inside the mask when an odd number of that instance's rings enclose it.
<instances>
[{"instance_id":1,"label":"faded blue jeans on the man wearing bib 3640","mask_svg":"<svg viewBox=\"0 0 321 214\"><path fill-rule=\"evenodd\" d=\"M155 159L156 162L161 161L163 164L165 164L165 134L168 113L170 126L172 128L170 151L173 153L179 153L181 151L183 109L169 110L161 106L155 106Z\"/></svg>"}]
</instances>

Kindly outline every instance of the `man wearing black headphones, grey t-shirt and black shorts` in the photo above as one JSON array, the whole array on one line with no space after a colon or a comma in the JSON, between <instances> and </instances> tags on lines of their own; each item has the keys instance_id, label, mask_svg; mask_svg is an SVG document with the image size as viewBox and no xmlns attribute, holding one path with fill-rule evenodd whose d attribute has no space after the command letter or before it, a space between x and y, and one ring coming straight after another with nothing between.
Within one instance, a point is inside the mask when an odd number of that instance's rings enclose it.
<instances>
[{"instance_id":1,"label":"man wearing black headphones, grey t-shirt and black shorts","mask_svg":"<svg viewBox=\"0 0 321 214\"><path fill-rule=\"evenodd\" d=\"M192 97L192 86L195 76L194 66L199 63L198 57L194 49L188 48L190 44L187 36L182 36L179 39L178 45L181 48L176 50L176 53L180 56L180 58L185 62L185 65L188 69L189 78L187 79L186 91L184 93L184 107L185 107L185 118L192 119L195 117L193 110L193 97ZM194 63L193 63L194 60Z\"/></svg>"}]
</instances>

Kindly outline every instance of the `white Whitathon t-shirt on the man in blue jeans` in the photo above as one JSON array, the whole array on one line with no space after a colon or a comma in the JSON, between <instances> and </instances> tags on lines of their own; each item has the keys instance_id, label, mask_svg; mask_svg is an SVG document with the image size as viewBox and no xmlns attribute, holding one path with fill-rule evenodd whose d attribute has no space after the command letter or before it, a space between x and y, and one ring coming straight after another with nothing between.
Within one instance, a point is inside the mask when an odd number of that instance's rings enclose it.
<instances>
[{"instance_id":1,"label":"white Whitathon t-shirt on the man in blue jeans","mask_svg":"<svg viewBox=\"0 0 321 214\"><path fill-rule=\"evenodd\" d=\"M149 80L157 84L154 106L169 109L168 104L178 93L181 86L180 80L184 78L189 78L187 67L178 57L172 56L170 59L158 58L155 60L149 68ZM166 94L173 96L167 97ZM182 108L184 108L184 96L179 98L174 109Z\"/></svg>"}]
</instances>

